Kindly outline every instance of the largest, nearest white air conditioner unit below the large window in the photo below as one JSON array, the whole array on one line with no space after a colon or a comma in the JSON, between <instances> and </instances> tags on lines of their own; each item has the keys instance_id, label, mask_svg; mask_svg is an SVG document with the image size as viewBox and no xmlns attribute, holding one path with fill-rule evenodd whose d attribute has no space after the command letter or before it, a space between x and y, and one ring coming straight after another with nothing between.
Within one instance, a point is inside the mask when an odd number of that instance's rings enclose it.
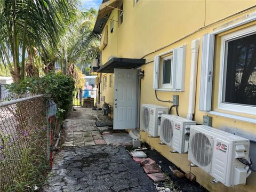
<instances>
[{"instance_id":1,"label":"largest, nearest white air conditioner unit below the large window","mask_svg":"<svg viewBox=\"0 0 256 192\"><path fill-rule=\"evenodd\" d=\"M225 186L245 184L250 141L206 125L191 125L188 159Z\"/></svg>"}]
</instances>

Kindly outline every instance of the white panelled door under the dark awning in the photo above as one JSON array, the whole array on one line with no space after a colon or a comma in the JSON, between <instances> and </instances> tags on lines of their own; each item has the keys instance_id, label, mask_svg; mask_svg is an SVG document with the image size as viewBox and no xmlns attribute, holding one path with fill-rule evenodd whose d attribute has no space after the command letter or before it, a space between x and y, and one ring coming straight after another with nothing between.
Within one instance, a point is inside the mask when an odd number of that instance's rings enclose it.
<instances>
[{"instance_id":1,"label":"white panelled door under the dark awning","mask_svg":"<svg viewBox=\"0 0 256 192\"><path fill-rule=\"evenodd\" d=\"M115 69L113 129L136 129L137 69Z\"/></svg>"}]
</instances>

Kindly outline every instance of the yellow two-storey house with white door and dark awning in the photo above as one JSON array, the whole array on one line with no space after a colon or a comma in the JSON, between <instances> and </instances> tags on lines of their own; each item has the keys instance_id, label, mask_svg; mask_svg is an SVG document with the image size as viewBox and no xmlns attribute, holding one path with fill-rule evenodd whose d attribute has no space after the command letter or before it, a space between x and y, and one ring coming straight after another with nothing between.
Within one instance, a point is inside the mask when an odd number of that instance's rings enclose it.
<instances>
[{"instance_id":1,"label":"yellow two-storey house with white door and dark awning","mask_svg":"<svg viewBox=\"0 0 256 192\"><path fill-rule=\"evenodd\" d=\"M110 103L114 129L139 128L142 103L170 108L159 100L179 95L181 117L203 124L210 116L217 129L256 138L255 1L103 0L94 32L101 34L98 102ZM146 132L140 138L189 171L187 154L170 153ZM255 172L229 188L192 172L210 191L256 191Z\"/></svg>"}]
</instances>

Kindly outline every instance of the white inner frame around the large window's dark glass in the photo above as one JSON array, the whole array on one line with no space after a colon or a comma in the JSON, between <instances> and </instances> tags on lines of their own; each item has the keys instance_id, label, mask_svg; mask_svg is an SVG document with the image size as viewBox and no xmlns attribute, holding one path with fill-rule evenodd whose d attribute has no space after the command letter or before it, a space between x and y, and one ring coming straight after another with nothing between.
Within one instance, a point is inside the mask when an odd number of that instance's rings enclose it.
<instances>
[{"instance_id":1,"label":"white inner frame around the large window's dark glass","mask_svg":"<svg viewBox=\"0 0 256 192\"><path fill-rule=\"evenodd\" d=\"M234 33L230 33L221 37L221 48L220 48L220 79L219 79L219 95L218 95L218 109L221 110L228 110L234 111L239 113L246 113L246 114L255 114L256 113L256 106L249 106L249 105L242 105L242 104L235 104L235 103L225 103L222 102L223 98L225 97L225 93L223 92L224 84L226 83L226 67L227 67L227 49L226 45L227 42L236 39L242 36L255 34L256 33L256 26L252 26L249 28L245 28L242 30L238 30ZM224 85L224 86L223 86Z\"/></svg>"}]
</instances>

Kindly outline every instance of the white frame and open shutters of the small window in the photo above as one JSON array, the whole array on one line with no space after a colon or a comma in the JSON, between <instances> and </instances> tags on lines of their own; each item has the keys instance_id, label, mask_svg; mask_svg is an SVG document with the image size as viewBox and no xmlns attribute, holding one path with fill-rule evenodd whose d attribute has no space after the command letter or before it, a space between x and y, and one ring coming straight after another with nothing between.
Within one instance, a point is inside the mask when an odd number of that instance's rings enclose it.
<instances>
[{"instance_id":1,"label":"white frame and open shutters of the small window","mask_svg":"<svg viewBox=\"0 0 256 192\"><path fill-rule=\"evenodd\" d=\"M169 54L172 54L172 71L171 71L172 86L165 88L165 87L162 87L163 80L162 80L162 74L159 73L159 67L164 56ZM185 66L186 66L186 45L182 45L171 51L156 55L154 58L153 89L158 91L175 91L175 92L185 91ZM162 69L162 72L163 72L163 69ZM159 87L159 84L161 85L161 87Z\"/></svg>"}]
</instances>

